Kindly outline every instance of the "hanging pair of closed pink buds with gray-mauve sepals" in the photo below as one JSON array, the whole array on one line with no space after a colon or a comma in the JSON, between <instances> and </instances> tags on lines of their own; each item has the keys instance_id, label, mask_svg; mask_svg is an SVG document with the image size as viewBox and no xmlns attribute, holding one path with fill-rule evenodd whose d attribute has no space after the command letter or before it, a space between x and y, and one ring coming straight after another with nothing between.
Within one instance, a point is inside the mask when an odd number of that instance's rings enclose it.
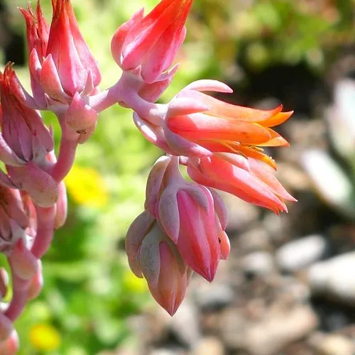
<instances>
[{"instance_id":1,"label":"hanging pair of closed pink buds with gray-mauve sepals","mask_svg":"<svg viewBox=\"0 0 355 355\"><path fill-rule=\"evenodd\" d=\"M192 271L212 281L219 259L229 254L226 207L214 190L182 178L177 156L163 156L153 166L145 207L127 233L129 264L173 315Z\"/></svg>"}]
</instances>

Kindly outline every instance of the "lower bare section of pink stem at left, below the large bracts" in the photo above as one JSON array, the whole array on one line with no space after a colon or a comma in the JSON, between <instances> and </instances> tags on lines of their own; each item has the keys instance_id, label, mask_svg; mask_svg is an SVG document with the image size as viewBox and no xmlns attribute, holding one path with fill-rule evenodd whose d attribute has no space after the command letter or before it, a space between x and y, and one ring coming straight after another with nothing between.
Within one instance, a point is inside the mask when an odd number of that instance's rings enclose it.
<instances>
[{"instance_id":1,"label":"lower bare section of pink stem at left, below the large bracts","mask_svg":"<svg viewBox=\"0 0 355 355\"><path fill-rule=\"evenodd\" d=\"M35 212L37 214L37 234L35 235L31 252L35 258L40 259L50 247L50 242L53 239L55 206L35 206Z\"/></svg>"}]
</instances>

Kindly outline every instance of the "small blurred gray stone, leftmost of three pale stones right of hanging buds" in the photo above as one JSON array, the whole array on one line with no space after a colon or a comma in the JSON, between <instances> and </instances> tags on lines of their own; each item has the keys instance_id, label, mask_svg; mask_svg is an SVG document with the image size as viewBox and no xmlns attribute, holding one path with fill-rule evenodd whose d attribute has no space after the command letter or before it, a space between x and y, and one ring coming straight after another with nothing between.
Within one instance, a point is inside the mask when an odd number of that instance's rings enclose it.
<instances>
[{"instance_id":1,"label":"small blurred gray stone, leftmost of three pale stones right of hanging buds","mask_svg":"<svg viewBox=\"0 0 355 355\"><path fill-rule=\"evenodd\" d=\"M252 275L267 275L275 271L275 263L271 253L254 251L241 259L241 268Z\"/></svg>"}]
</instances>

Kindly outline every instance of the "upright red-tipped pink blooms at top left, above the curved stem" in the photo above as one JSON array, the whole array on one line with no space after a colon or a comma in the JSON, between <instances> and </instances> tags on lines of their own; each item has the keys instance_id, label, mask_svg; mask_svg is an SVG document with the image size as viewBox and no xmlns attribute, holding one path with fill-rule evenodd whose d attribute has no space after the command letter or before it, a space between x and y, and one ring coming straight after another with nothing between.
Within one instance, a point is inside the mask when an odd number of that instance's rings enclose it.
<instances>
[{"instance_id":1,"label":"upright red-tipped pink blooms at top left, above the curved stem","mask_svg":"<svg viewBox=\"0 0 355 355\"><path fill-rule=\"evenodd\" d=\"M101 73L79 27L70 0L52 0L48 25L38 1L36 13L21 9L27 25L31 87L40 109L70 104L75 93L94 93Z\"/></svg>"}]
</instances>

